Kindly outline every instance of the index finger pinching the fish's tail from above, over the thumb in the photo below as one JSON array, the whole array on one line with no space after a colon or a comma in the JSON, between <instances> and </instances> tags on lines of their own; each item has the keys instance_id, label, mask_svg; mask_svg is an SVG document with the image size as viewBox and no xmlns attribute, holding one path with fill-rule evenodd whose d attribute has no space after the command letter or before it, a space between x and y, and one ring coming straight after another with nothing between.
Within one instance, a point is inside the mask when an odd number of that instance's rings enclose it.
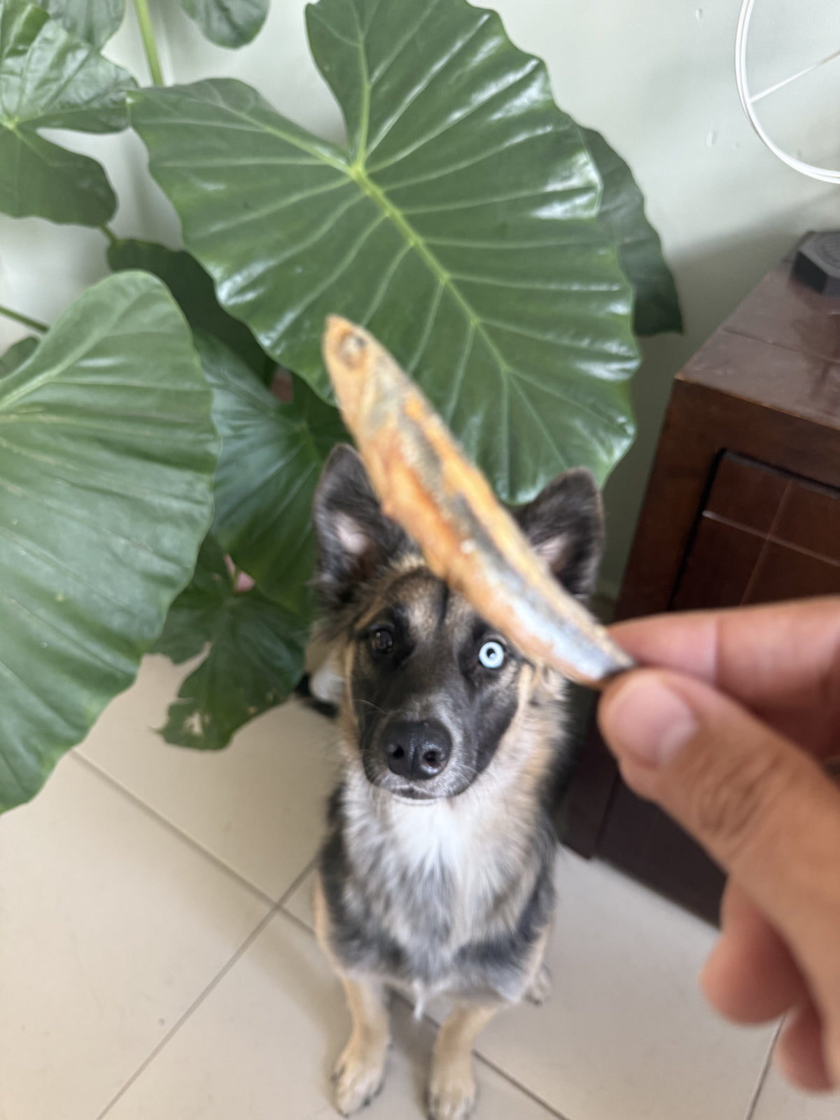
<instances>
[{"instance_id":1,"label":"index finger pinching the fish's tail from above, over the thumb","mask_svg":"<svg viewBox=\"0 0 840 1120\"><path fill-rule=\"evenodd\" d=\"M642 664L698 676L818 754L840 749L840 596L619 623Z\"/></svg>"}]
</instances>

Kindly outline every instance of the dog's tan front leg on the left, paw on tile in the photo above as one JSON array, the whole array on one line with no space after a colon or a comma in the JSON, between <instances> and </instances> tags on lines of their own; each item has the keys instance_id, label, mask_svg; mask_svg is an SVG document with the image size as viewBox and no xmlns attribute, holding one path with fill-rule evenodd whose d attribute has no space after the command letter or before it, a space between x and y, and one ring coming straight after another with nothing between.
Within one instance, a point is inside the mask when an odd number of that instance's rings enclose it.
<instances>
[{"instance_id":1,"label":"dog's tan front leg on the left, paw on tile","mask_svg":"<svg viewBox=\"0 0 840 1120\"><path fill-rule=\"evenodd\" d=\"M335 1100L338 1111L349 1116L367 1104L385 1076L391 1034L382 986L370 980L352 980L339 973L353 1019L347 1045L335 1067Z\"/></svg>"}]
</instances>

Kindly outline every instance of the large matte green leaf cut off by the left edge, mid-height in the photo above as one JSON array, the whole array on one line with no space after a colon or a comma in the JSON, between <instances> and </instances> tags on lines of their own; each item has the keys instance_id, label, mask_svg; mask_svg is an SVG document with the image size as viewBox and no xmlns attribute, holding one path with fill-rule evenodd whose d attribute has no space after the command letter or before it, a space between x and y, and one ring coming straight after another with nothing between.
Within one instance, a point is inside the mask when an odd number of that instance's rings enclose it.
<instances>
[{"instance_id":1,"label":"large matte green leaf cut off by the left edge, mid-height","mask_svg":"<svg viewBox=\"0 0 840 1120\"><path fill-rule=\"evenodd\" d=\"M166 288L91 288L0 381L0 809L134 679L212 516L217 438Z\"/></svg>"}]
</instances>

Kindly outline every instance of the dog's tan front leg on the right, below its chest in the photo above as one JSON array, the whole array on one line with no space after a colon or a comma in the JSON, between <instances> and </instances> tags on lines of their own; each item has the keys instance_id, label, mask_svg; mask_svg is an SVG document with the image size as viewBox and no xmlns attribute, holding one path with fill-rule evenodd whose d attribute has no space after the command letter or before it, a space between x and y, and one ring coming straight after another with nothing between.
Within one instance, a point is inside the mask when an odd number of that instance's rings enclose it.
<instances>
[{"instance_id":1,"label":"dog's tan front leg on the right, below its chest","mask_svg":"<svg viewBox=\"0 0 840 1120\"><path fill-rule=\"evenodd\" d=\"M431 1120L465 1120L475 1108L473 1047L498 1005L459 1004L444 1020L435 1042L429 1079Z\"/></svg>"}]
</instances>

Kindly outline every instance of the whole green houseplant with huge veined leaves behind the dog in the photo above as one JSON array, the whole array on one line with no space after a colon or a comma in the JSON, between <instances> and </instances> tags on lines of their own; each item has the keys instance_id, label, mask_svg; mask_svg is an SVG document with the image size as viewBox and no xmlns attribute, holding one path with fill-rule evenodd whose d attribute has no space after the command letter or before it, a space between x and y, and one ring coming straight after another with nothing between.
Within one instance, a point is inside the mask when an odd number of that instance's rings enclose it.
<instances>
[{"instance_id":1,"label":"whole green houseplant with huge veined leaves behind the dog","mask_svg":"<svg viewBox=\"0 0 840 1120\"><path fill-rule=\"evenodd\" d=\"M228 47L269 7L180 3ZM507 501L576 464L606 478L633 436L633 327L680 327L628 168L557 108L544 65L495 12L467 0L310 4L312 56L346 124L337 146L240 82L164 87L149 9L134 0L155 83L141 87L101 54L123 9L0 0L0 211L102 227L114 272L0 360L1 808L37 792L156 642L178 662L204 653L162 729L171 743L224 746L297 683L312 617L309 503L344 438L319 355L327 312L381 338ZM102 167L39 132L127 125L178 214L183 251L118 239ZM30 435L40 455L28 495L6 432ZM76 460L44 454L54 445ZM20 508L36 505L24 532ZM62 514L88 529L72 538L66 589ZM129 545L102 548L94 530L111 517L115 541L134 540L127 525L143 516L149 536L131 553L143 562L127 570ZM116 609L123 587L130 604ZM40 627L65 643L39 644Z\"/></svg>"}]
</instances>

